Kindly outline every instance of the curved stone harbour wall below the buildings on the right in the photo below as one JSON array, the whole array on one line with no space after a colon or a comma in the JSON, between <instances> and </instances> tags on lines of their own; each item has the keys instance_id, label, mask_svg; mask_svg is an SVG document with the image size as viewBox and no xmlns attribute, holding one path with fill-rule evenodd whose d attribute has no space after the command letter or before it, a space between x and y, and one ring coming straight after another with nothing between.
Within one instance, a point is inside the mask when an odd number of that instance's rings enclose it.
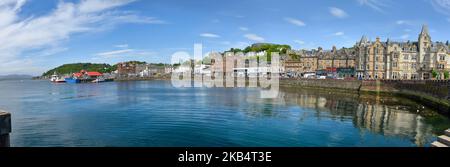
<instances>
[{"instance_id":1,"label":"curved stone harbour wall below the buildings on the right","mask_svg":"<svg viewBox=\"0 0 450 167\"><path fill-rule=\"evenodd\" d=\"M280 86L402 96L450 117L450 80L283 79Z\"/></svg>"}]
</instances>

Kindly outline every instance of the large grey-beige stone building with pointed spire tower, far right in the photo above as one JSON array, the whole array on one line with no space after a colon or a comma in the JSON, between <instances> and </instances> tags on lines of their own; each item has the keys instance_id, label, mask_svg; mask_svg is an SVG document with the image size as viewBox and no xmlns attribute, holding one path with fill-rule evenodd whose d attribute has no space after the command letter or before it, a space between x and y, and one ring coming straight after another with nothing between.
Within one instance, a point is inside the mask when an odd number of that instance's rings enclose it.
<instances>
[{"instance_id":1,"label":"large grey-beige stone building with pointed spire tower, far right","mask_svg":"<svg viewBox=\"0 0 450 167\"><path fill-rule=\"evenodd\" d=\"M355 46L357 77L360 79L444 79L449 71L448 42L432 42L424 25L417 42L369 41L363 36Z\"/></svg>"}]
</instances>

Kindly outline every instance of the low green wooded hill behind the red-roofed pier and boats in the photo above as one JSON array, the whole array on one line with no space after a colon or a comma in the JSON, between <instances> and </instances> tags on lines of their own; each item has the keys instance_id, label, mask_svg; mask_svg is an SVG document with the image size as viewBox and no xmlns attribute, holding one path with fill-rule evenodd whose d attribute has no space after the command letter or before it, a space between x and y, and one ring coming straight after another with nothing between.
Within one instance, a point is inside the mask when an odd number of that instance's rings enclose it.
<instances>
[{"instance_id":1,"label":"low green wooded hill behind the red-roofed pier and boats","mask_svg":"<svg viewBox=\"0 0 450 167\"><path fill-rule=\"evenodd\" d=\"M64 64L62 66L51 69L42 76L50 76L53 75L54 72L57 74L71 74L74 72L79 72L81 70L87 71L98 71L101 73L110 73L116 70L116 66L112 66L109 64L94 64L94 63L74 63L74 64Z\"/></svg>"}]
</instances>

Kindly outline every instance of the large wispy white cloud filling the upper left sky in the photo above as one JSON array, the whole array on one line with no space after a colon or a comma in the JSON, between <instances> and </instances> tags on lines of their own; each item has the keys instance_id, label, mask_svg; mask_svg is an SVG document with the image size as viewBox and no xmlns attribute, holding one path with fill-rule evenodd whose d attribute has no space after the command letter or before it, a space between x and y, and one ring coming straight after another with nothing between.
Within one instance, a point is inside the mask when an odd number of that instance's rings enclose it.
<instances>
[{"instance_id":1,"label":"large wispy white cloud filling the upper left sky","mask_svg":"<svg viewBox=\"0 0 450 167\"><path fill-rule=\"evenodd\" d=\"M23 53L58 47L74 34L97 32L120 23L164 23L157 18L141 17L134 12L116 10L133 1L82 0L78 3L59 1L56 8L49 13L28 18L21 15L26 0L0 1L0 39L2 39L0 64L3 67L0 73L18 72L8 70L12 67L7 65L14 64L11 62L27 59L33 64L34 61L39 61L33 58L33 54L23 55ZM36 69L30 66L20 67L24 72Z\"/></svg>"}]
</instances>

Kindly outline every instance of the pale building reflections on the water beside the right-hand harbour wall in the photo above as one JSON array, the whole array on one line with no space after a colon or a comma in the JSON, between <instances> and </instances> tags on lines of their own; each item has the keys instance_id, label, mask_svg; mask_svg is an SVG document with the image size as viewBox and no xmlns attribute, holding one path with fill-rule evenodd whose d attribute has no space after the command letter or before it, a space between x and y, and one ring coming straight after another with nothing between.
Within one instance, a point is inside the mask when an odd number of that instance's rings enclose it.
<instances>
[{"instance_id":1,"label":"pale building reflections on the water beside the right-hand harbour wall","mask_svg":"<svg viewBox=\"0 0 450 167\"><path fill-rule=\"evenodd\" d=\"M281 92L286 103L297 104L315 111L314 117L328 117L333 120L352 120L360 133L369 131L385 137L413 139L418 146L429 144L427 136L432 135L432 126L424 123L424 117L405 107L370 104L345 95L302 91ZM403 99L404 100L404 99ZM408 107L406 107L408 108ZM305 119L305 118L302 118Z\"/></svg>"}]
</instances>

